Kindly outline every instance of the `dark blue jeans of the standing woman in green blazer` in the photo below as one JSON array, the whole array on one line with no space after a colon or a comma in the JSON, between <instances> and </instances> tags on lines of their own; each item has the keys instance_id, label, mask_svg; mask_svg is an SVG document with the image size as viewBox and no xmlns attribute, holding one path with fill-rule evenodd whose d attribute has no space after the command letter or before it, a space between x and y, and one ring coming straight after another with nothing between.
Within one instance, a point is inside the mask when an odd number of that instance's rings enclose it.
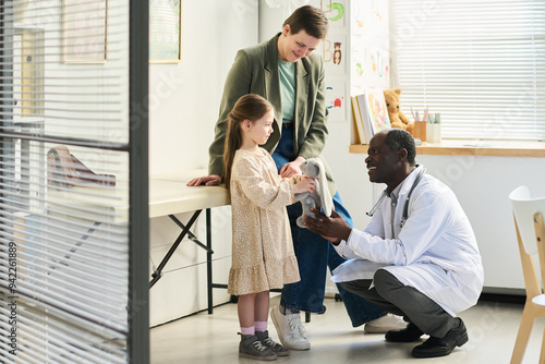
<instances>
[{"instance_id":1,"label":"dark blue jeans of the standing woman in green blazer","mask_svg":"<svg viewBox=\"0 0 545 364\"><path fill-rule=\"evenodd\" d=\"M272 159L280 171L283 165L293 161L293 131L283 129L280 142L272 153ZM334 196L335 210L352 227L352 218L337 192ZM286 284L282 289L280 304L290 310L320 313L324 307L327 267L332 271L346 259L342 258L331 243L308 229L298 227L295 220L303 215L301 203L287 207L290 218L293 247L299 264L301 280L296 283ZM337 289L342 298L344 307L352 321L358 327L375 318L386 315L384 311L365 299L348 292L340 284Z\"/></svg>"}]
</instances>

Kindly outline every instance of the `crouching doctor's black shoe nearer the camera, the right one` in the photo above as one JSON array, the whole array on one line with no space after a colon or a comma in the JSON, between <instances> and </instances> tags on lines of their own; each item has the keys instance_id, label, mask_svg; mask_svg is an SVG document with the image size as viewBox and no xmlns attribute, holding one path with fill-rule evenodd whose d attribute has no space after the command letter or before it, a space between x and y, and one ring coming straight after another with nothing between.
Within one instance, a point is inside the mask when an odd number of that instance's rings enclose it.
<instances>
[{"instance_id":1,"label":"crouching doctor's black shoe nearer the camera, the right one","mask_svg":"<svg viewBox=\"0 0 545 364\"><path fill-rule=\"evenodd\" d=\"M446 356L455 350L456 347L461 347L468 342L468 330L461 318L458 326L450 329L444 338L429 337L423 344L417 345L412 350L414 357L437 357Z\"/></svg>"}]
</instances>

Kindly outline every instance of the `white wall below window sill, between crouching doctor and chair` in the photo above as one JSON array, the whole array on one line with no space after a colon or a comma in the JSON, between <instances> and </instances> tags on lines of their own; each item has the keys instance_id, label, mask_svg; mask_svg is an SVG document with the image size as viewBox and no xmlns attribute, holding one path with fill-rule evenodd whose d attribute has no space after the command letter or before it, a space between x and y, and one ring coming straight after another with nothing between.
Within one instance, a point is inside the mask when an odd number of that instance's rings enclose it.
<instances>
[{"instance_id":1,"label":"white wall below window sill, between crouching doctor and chair","mask_svg":"<svg viewBox=\"0 0 545 364\"><path fill-rule=\"evenodd\" d=\"M479 242L485 291L510 293L524 288L509 193L521 184L545 193L544 158L421 156L419 162L449 184ZM500 290L498 290L500 289Z\"/></svg>"}]
</instances>

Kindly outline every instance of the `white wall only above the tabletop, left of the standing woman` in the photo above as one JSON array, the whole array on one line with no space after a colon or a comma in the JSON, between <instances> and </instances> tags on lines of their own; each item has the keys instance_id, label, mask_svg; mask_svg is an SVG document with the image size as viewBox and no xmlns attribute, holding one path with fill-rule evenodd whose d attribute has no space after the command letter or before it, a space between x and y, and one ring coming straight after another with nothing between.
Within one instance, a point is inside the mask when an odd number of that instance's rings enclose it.
<instances>
[{"instance_id":1,"label":"white wall only above the tabletop, left of the standing woman","mask_svg":"<svg viewBox=\"0 0 545 364\"><path fill-rule=\"evenodd\" d=\"M237 50L257 43L253 1L182 1L182 62L149 66L150 174L208 167Z\"/></svg>"}]
</instances>

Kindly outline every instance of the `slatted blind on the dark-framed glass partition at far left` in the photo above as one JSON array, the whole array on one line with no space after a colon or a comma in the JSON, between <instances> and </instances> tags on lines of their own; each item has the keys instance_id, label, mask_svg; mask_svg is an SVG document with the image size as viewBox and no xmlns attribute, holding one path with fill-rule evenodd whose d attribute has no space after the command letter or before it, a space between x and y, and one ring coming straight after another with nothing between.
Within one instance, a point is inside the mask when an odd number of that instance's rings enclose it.
<instances>
[{"instance_id":1,"label":"slatted blind on the dark-framed glass partition at far left","mask_svg":"<svg viewBox=\"0 0 545 364\"><path fill-rule=\"evenodd\" d=\"M147 326L147 290L135 294L132 281L135 247L147 239L134 238L138 225L131 223L147 220L147 195L140 196L144 217L132 203L147 180L147 162L133 168L135 150L147 156L146 143L132 143L146 116L133 124L129 107L130 75L138 73L134 8L106 0L0 5L2 363L148 361L133 354L147 347L147 331L134 333ZM146 3L141 9L147 14ZM138 317L145 323L135 324Z\"/></svg>"}]
</instances>

